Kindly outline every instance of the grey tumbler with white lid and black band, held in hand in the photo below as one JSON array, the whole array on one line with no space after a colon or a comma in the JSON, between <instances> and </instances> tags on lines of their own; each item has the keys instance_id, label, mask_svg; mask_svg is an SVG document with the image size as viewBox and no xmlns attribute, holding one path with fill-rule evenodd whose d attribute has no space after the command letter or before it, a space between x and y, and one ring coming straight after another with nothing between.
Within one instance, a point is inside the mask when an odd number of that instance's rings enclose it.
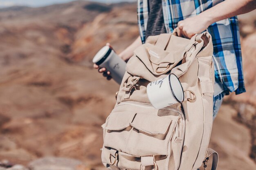
<instances>
[{"instance_id":1,"label":"grey tumbler with white lid and black band, held in hand","mask_svg":"<svg viewBox=\"0 0 256 170\"><path fill-rule=\"evenodd\" d=\"M121 84L126 71L126 62L122 60L110 46L103 46L94 56L92 62L110 71L112 78Z\"/></svg>"}]
</instances>

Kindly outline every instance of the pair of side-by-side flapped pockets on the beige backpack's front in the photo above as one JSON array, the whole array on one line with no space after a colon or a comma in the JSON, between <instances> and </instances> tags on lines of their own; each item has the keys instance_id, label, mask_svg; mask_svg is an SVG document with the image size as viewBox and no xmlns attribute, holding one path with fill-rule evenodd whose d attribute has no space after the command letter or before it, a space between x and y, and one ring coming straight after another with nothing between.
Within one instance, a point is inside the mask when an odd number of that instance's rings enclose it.
<instances>
[{"instance_id":1,"label":"pair of side-by-side flapped pockets on the beige backpack's front","mask_svg":"<svg viewBox=\"0 0 256 170\"><path fill-rule=\"evenodd\" d=\"M137 112L118 111L124 107ZM118 106L116 112L110 114L105 126L104 146L136 156L168 155L168 144L175 135L180 114L170 110L138 107Z\"/></svg>"}]
</instances>

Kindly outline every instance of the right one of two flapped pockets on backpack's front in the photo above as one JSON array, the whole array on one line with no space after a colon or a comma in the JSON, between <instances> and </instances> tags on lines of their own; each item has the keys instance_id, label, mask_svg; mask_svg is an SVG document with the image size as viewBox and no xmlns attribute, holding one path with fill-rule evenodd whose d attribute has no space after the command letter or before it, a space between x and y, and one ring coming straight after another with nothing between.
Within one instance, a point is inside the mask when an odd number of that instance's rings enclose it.
<instances>
[{"instance_id":1,"label":"right one of two flapped pockets on backpack's front","mask_svg":"<svg viewBox=\"0 0 256 170\"><path fill-rule=\"evenodd\" d=\"M126 152L132 155L168 155L168 143L173 133L175 121L149 113L137 113L130 123L130 133Z\"/></svg>"}]
</instances>

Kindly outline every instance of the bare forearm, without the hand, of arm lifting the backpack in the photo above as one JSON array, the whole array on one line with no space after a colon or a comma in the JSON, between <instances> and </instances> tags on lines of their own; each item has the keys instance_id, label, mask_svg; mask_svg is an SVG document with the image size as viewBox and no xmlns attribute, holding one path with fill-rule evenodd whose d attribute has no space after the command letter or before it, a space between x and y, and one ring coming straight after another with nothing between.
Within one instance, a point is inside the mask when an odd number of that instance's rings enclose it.
<instances>
[{"instance_id":1,"label":"bare forearm, without the hand, of arm lifting the backpack","mask_svg":"<svg viewBox=\"0 0 256 170\"><path fill-rule=\"evenodd\" d=\"M225 0L200 13L202 18L213 24L226 18L250 12L256 9L256 0Z\"/></svg>"}]
</instances>

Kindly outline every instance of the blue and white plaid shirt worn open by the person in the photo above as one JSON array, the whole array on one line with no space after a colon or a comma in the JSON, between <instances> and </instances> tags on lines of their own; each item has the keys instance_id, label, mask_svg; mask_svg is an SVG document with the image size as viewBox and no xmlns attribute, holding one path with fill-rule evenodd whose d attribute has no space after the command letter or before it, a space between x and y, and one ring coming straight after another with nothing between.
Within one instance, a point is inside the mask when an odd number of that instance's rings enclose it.
<instances>
[{"instance_id":1,"label":"blue and white plaid shirt worn open by the person","mask_svg":"<svg viewBox=\"0 0 256 170\"><path fill-rule=\"evenodd\" d=\"M162 0L164 24L167 33L171 33L180 20L195 16L222 1ZM137 14L139 33L144 43L148 22L148 0L138 0ZM236 94L245 92L237 17L213 23L206 31L212 36L216 79L223 84L226 94L234 91Z\"/></svg>"}]
</instances>

